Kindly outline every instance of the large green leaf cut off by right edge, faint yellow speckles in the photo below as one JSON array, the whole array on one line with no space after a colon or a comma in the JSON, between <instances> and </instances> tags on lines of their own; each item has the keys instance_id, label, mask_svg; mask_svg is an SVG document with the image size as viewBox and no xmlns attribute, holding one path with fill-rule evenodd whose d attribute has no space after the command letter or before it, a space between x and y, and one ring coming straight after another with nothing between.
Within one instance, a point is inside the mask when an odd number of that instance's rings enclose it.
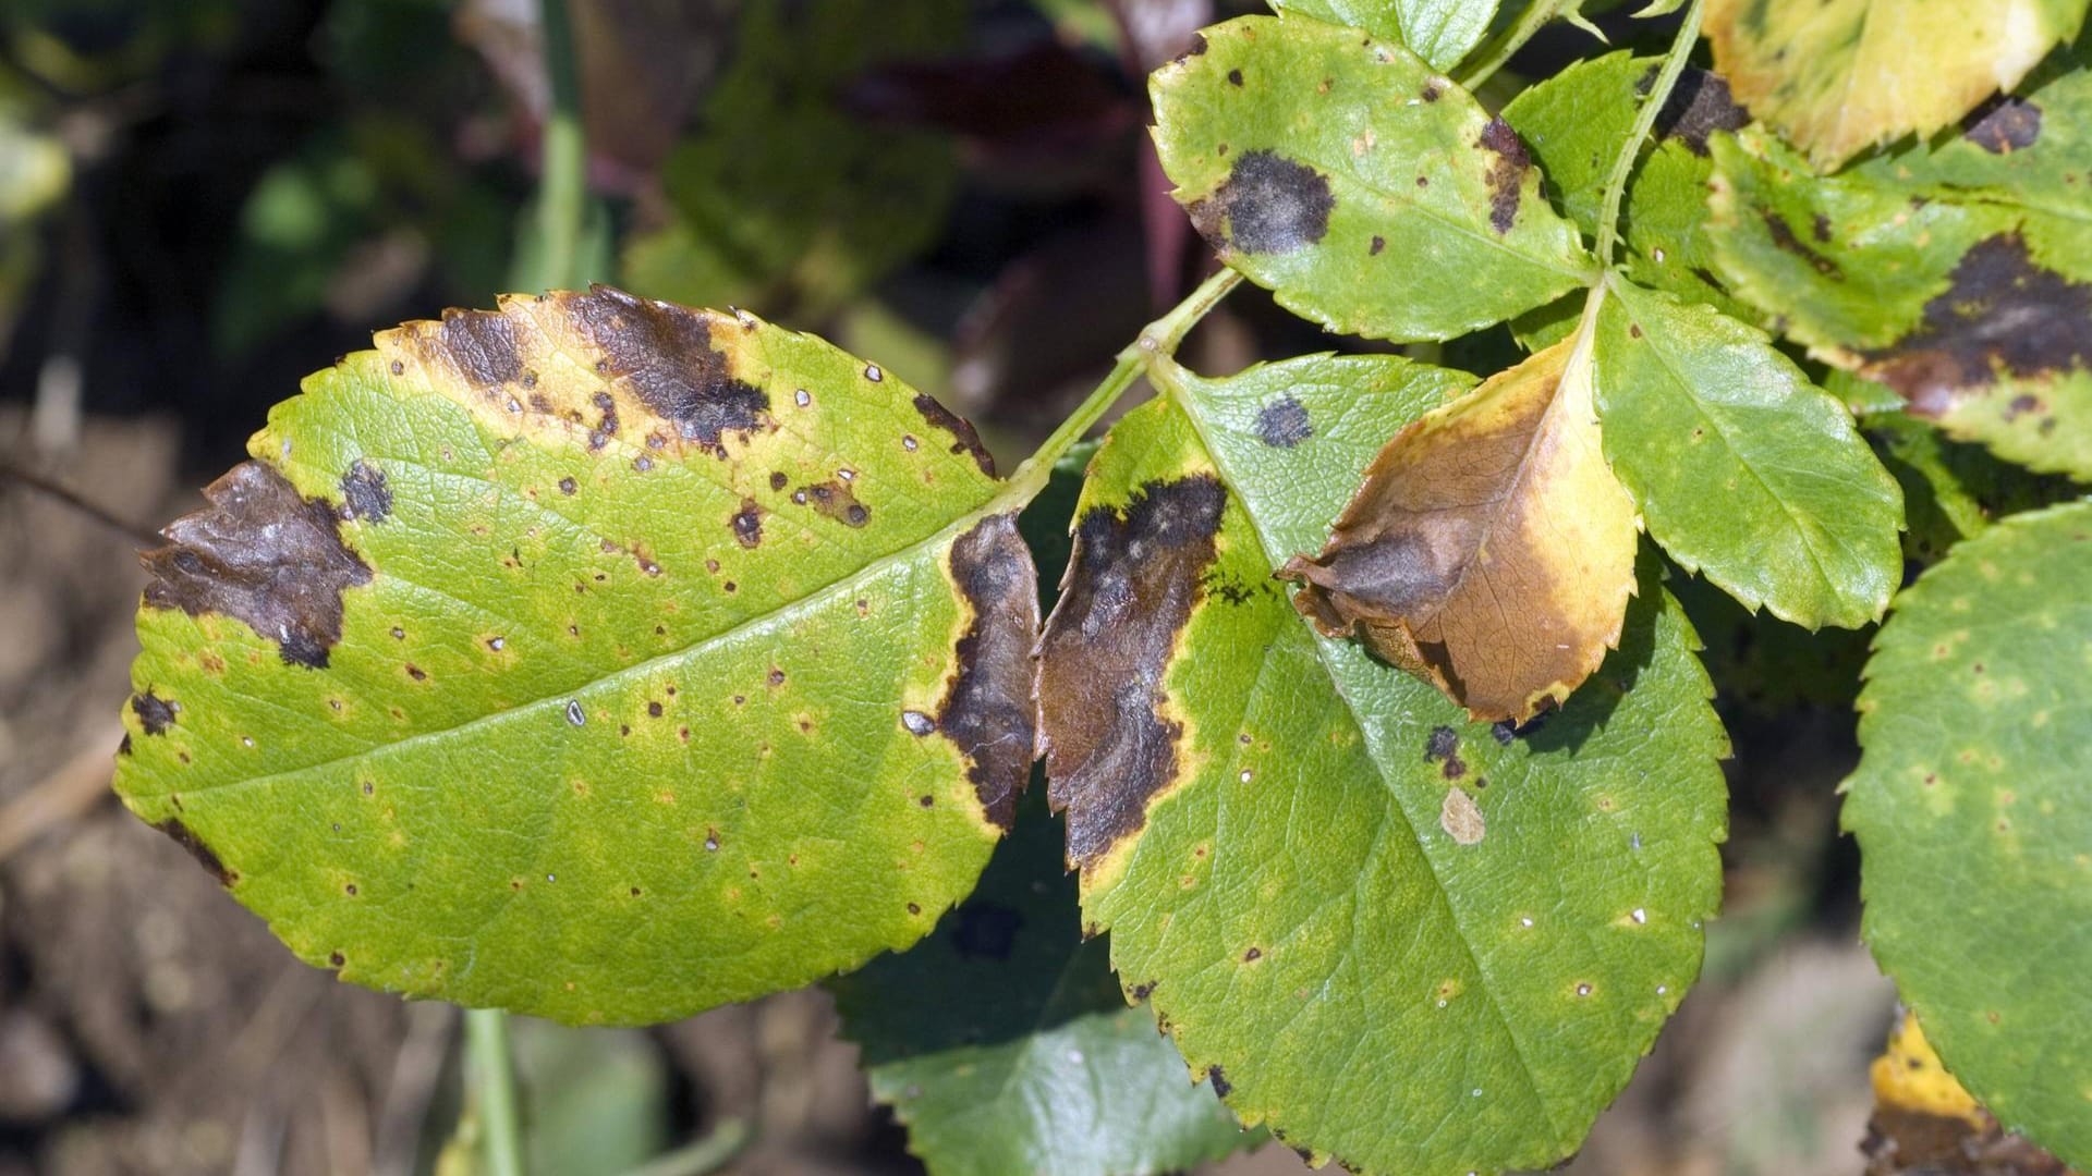
<instances>
[{"instance_id":1,"label":"large green leaf cut off by right edge, faint yellow speckles","mask_svg":"<svg viewBox=\"0 0 2092 1176\"><path fill-rule=\"evenodd\" d=\"M2092 504L2015 515L1897 596L1860 695L1864 933L1954 1076L2092 1166Z\"/></svg>"}]
</instances>

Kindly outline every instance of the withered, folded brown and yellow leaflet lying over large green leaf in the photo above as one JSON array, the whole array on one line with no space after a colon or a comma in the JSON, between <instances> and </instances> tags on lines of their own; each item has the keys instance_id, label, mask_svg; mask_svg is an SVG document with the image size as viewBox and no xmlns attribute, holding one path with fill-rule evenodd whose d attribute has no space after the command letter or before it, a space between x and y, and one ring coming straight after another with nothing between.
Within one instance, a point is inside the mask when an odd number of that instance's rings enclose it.
<instances>
[{"instance_id":1,"label":"withered, folded brown and yellow leaflet lying over large green leaf","mask_svg":"<svg viewBox=\"0 0 2092 1176\"><path fill-rule=\"evenodd\" d=\"M1301 615L1477 720L1525 722L1619 642L1634 502L1598 450L1590 360L1556 343L1408 423L1314 559Z\"/></svg>"}]
</instances>

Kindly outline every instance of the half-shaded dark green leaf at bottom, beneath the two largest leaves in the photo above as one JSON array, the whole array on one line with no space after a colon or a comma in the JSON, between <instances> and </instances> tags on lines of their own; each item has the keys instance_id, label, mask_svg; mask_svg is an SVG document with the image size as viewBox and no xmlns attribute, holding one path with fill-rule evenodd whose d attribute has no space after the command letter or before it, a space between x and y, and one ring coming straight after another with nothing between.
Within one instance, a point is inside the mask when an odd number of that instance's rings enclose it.
<instances>
[{"instance_id":1,"label":"half-shaded dark green leaf at bottom, beneath the two largest leaves","mask_svg":"<svg viewBox=\"0 0 2092 1176\"><path fill-rule=\"evenodd\" d=\"M1146 1176L1261 1143L1192 1084L1082 937L1061 822L1027 797L937 931L831 983L872 1096L939 1176Z\"/></svg>"}]
</instances>

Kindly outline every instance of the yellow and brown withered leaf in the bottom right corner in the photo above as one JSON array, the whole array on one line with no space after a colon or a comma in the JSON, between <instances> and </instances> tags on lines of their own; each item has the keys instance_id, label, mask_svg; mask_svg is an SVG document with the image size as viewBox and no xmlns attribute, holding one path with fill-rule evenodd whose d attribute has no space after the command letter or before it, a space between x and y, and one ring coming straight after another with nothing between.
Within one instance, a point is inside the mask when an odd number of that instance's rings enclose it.
<instances>
[{"instance_id":1,"label":"yellow and brown withered leaf in the bottom right corner","mask_svg":"<svg viewBox=\"0 0 2092 1176\"><path fill-rule=\"evenodd\" d=\"M1908 1013L1870 1078L1874 1117L1860 1145L1866 1176L2069 1176L2061 1159L1998 1128L1939 1065Z\"/></svg>"}]
</instances>

